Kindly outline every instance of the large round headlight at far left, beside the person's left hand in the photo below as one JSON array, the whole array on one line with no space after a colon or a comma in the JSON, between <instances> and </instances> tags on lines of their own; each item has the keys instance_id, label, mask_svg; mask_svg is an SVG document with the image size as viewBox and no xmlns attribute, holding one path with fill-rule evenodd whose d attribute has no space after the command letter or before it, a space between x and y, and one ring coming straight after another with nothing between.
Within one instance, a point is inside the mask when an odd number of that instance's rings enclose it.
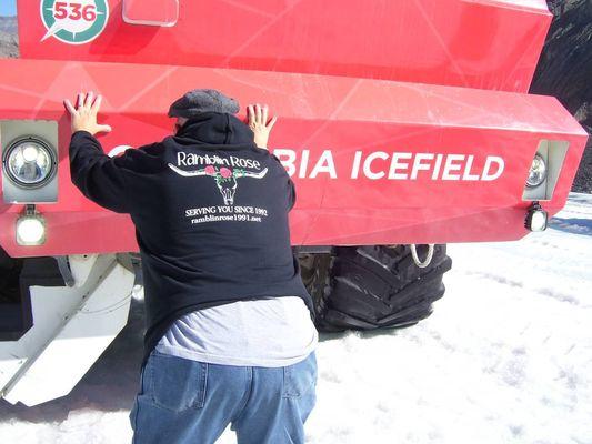
<instances>
[{"instance_id":1,"label":"large round headlight at far left, beside the person's left hand","mask_svg":"<svg viewBox=\"0 0 592 444\"><path fill-rule=\"evenodd\" d=\"M23 188L43 185L53 176L56 167L56 158L49 144L32 137L12 142L3 159L8 178Z\"/></svg>"}]
</instances>

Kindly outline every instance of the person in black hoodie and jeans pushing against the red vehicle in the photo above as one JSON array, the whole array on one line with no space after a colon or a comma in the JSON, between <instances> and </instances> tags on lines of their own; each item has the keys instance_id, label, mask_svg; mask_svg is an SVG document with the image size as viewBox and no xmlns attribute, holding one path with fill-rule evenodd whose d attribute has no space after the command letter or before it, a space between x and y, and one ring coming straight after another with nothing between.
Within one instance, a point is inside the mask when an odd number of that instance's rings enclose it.
<instances>
[{"instance_id":1,"label":"person in black hoodie and jeans pushing against the red vehicle","mask_svg":"<svg viewBox=\"0 0 592 444\"><path fill-rule=\"evenodd\" d=\"M268 108L193 90L175 133L104 154L101 97L64 101L70 173L90 200L129 213L142 259L147 331L133 443L303 443L315 405L313 304L290 244L292 180L267 150Z\"/></svg>"}]
</instances>

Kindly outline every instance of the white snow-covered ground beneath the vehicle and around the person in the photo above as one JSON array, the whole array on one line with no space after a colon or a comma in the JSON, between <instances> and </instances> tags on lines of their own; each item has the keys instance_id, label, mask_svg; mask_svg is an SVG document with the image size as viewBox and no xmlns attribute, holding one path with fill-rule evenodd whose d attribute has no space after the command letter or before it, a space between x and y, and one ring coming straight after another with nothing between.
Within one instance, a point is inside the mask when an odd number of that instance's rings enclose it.
<instances>
[{"instance_id":1,"label":"white snow-covered ground beneath the vehicle and around the person","mask_svg":"<svg viewBox=\"0 0 592 444\"><path fill-rule=\"evenodd\" d=\"M544 233L449 253L430 319L321 335L308 442L591 444L592 195L572 194ZM129 443L142 310L69 396L0 401L0 442Z\"/></svg>"}]
</instances>

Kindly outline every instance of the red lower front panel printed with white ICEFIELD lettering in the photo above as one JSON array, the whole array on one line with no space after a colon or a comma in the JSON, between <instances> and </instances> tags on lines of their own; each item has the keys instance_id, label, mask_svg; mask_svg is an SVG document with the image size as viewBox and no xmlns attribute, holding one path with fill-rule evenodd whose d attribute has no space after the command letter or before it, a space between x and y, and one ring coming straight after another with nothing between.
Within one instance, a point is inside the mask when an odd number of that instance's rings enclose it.
<instances>
[{"instance_id":1,"label":"red lower front panel printed with white ICEFIELD lettering","mask_svg":"<svg viewBox=\"0 0 592 444\"><path fill-rule=\"evenodd\" d=\"M38 205L48 222L47 243L16 245L14 220L23 205L0 204L0 243L9 254L137 251L131 219L101 209L71 183L62 99L77 90L104 95L103 121L114 129L101 139L109 151L169 134L170 102L195 85L220 89L243 105L263 101L280 114L271 147L290 172L290 155L298 159L293 244L519 239L526 234L528 202L521 198L539 141L570 142L553 200L544 204L552 214L565 203L586 141L585 131L555 99L539 95L261 71L4 60L0 119L58 120L60 129L59 202ZM334 163L334 176L328 158L315 168L323 152ZM370 179L362 171L353 178L357 152L363 159L383 152L388 159L377 158L369 167L370 174L387 175ZM442 173L433 180L434 168L419 171L414 180L389 179L395 153L473 155L468 172L466 163L461 173L449 171L460 179L481 174L488 157L503 159L505 167L492 181L444 180ZM411 173L393 171L405 172Z\"/></svg>"}]
</instances>

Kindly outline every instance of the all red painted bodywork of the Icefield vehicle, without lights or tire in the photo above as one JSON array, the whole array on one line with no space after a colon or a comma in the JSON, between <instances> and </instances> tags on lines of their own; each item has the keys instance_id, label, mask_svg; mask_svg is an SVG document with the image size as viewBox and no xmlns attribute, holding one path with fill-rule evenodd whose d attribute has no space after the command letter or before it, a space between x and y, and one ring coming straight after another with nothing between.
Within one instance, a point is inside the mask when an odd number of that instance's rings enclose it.
<instances>
[{"instance_id":1,"label":"all red painted bodywork of the Icefield vehicle, without lights or tire","mask_svg":"<svg viewBox=\"0 0 592 444\"><path fill-rule=\"evenodd\" d=\"M551 21L543 0L181 0L178 17L175 0L108 2L104 28L83 44L48 32L41 1L18 2L22 57L54 61L0 61L0 119L59 122L59 195L37 205L39 246L16 244L23 204L0 201L0 244L12 256L138 251L130 216L71 183L62 100L79 90L106 99L107 152L170 134L169 104L197 87L268 103L280 117L271 147L297 183L297 245L520 239L542 139L569 143L544 208L565 203L586 133L555 99L521 94ZM130 24L123 12L177 22ZM404 155L448 167L413 176ZM464 170L444 176L454 155ZM504 169L485 180L491 159Z\"/></svg>"}]
</instances>

